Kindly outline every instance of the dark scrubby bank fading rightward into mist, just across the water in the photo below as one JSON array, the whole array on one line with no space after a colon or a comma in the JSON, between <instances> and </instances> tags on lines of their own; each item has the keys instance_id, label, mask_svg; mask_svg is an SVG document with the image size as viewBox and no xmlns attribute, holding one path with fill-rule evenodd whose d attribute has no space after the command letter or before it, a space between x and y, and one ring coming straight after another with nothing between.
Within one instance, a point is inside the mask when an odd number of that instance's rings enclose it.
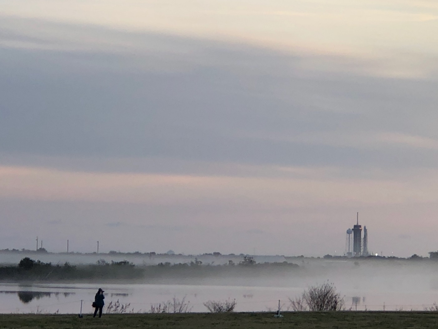
<instances>
[{"instance_id":1,"label":"dark scrubby bank fading rightward into mist, just across the water","mask_svg":"<svg viewBox=\"0 0 438 329\"><path fill-rule=\"evenodd\" d=\"M0 281L88 281L112 282L120 279L141 280L144 283L153 283L171 278L196 279L201 277L253 277L262 275L285 275L297 264L282 263L256 263L252 257L245 256L243 261L235 264L229 261L226 265L203 265L195 259L190 263L171 264L170 262L158 265L134 265L129 261L111 263L101 259L91 265L64 265L34 261L29 257L23 258L18 265L1 266Z\"/></svg>"}]
</instances>

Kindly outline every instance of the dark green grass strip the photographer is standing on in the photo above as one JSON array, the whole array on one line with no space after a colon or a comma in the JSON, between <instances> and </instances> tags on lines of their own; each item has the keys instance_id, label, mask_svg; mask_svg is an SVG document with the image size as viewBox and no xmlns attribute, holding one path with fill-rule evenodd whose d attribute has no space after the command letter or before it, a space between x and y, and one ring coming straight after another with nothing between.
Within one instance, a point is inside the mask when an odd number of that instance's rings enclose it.
<instances>
[{"instance_id":1,"label":"dark green grass strip the photographer is standing on","mask_svg":"<svg viewBox=\"0 0 438 329\"><path fill-rule=\"evenodd\" d=\"M169 329L283 329L283 328L437 328L433 312L329 312L227 314L0 315L0 328L169 328Z\"/></svg>"}]
</instances>

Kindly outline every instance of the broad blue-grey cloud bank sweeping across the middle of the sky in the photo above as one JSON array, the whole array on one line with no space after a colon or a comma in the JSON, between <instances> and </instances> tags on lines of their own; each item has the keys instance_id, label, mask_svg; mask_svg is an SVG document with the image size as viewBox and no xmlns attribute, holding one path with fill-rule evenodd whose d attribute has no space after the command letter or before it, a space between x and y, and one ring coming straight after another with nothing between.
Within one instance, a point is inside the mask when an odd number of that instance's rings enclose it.
<instances>
[{"instance_id":1,"label":"broad blue-grey cloud bank sweeping across the middle of the sky","mask_svg":"<svg viewBox=\"0 0 438 329\"><path fill-rule=\"evenodd\" d=\"M2 23L13 32L9 39L42 29L46 41L7 46L0 57L1 151L10 159L386 168L436 162L422 147L407 153L381 138L436 138L437 82L427 78L433 65L425 64L422 81L382 79L370 72L386 64L346 56L24 19L18 21L28 29L15 31L14 20ZM99 38L106 42L96 44ZM423 115L411 111L415 104Z\"/></svg>"}]
</instances>

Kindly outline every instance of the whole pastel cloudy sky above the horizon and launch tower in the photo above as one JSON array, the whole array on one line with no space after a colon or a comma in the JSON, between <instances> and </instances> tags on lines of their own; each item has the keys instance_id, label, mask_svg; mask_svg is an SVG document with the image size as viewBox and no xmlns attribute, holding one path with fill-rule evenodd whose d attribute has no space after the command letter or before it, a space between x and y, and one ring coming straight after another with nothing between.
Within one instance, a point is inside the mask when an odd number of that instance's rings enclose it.
<instances>
[{"instance_id":1,"label":"whole pastel cloudy sky above the horizon and launch tower","mask_svg":"<svg viewBox=\"0 0 438 329\"><path fill-rule=\"evenodd\" d=\"M0 248L438 250L432 0L2 0Z\"/></svg>"}]
</instances>

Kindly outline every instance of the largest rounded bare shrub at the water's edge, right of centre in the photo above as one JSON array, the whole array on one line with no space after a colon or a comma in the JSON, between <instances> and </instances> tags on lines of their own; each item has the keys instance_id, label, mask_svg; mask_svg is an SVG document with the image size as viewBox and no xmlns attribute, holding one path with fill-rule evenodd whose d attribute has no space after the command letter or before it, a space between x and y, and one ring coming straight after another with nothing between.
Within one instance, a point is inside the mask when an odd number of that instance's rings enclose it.
<instances>
[{"instance_id":1,"label":"largest rounded bare shrub at the water's edge, right of centre","mask_svg":"<svg viewBox=\"0 0 438 329\"><path fill-rule=\"evenodd\" d=\"M300 297L289 298L289 301L293 311L340 311L345 304L335 286L328 282L311 286Z\"/></svg>"}]
</instances>

